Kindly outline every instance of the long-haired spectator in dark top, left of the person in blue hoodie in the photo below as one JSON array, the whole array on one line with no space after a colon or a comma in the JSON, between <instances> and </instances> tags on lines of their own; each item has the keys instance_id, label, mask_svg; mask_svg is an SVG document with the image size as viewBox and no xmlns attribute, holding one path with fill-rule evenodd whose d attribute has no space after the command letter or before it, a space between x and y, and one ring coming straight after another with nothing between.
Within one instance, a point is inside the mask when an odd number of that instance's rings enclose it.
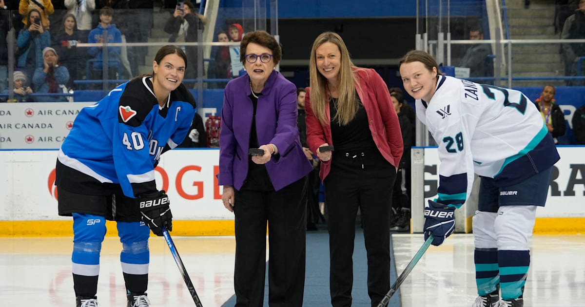
<instances>
[{"instance_id":1,"label":"long-haired spectator in dark top, left of the person in blue hoodie","mask_svg":"<svg viewBox=\"0 0 585 307\"><path fill-rule=\"evenodd\" d=\"M77 49L77 43L82 43L85 37L87 36L77 30L75 16L67 13L61 31L53 39L53 48L60 55L60 65L66 67L69 72L67 88L73 88L74 79L81 79L77 71L82 71L85 65L85 49Z\"/></svg>"}]
</instances>

